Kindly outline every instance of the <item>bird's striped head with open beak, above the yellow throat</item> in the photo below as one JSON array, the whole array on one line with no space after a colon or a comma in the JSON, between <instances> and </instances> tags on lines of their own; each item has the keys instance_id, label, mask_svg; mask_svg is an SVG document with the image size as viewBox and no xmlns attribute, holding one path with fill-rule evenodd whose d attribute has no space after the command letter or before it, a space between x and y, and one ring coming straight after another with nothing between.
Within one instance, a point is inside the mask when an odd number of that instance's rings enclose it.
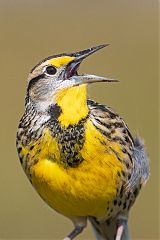
<instances>
[{"instance_id":1,"label":"bird's striped head with open beak, above the yellow throat","mask_svg":"<svg viewBox=\"0 0 160 240\"><path fill-rule=\"evenodd\" d=\"M91 74L78 74L83 59L107 45L99 45L76 53L50 56L37 64L28 77L27 95L41 111L56 104L58 96L72 88L72 93L88 83L113 82L116 80ZM83 85L83 86L82 86ZM63 94L62 94L63 93ZM75 101L76 99L73 99Z\"/></svg>"}]
</instances>

